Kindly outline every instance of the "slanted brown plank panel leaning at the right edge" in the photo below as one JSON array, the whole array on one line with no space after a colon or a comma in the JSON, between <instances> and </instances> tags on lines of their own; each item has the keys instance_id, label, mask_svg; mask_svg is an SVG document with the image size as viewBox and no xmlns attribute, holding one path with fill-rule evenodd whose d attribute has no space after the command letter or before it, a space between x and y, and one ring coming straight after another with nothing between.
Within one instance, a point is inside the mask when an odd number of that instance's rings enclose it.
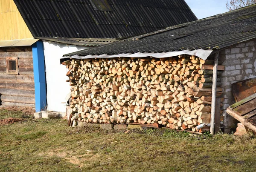
<instances>
[{"instance_id":1,"label":"slanted brown plank panel leaning at the right edge","mask_svg":"<svg viewBox=\"0 0 256 172\"><path fill-rule=\"evenodd\" d=\"M256 134L256 93L229 106L227 113Z\"/></svg>"}]
</instances>

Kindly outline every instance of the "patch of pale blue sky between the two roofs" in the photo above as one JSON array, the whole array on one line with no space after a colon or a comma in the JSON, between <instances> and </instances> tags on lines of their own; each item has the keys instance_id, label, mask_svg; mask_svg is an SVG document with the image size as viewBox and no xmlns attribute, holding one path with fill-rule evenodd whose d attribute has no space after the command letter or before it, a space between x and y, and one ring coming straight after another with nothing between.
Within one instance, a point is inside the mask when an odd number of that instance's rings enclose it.
<instances>
[{"instance_id":1,"label":"patch of pale blue sky between the two roofs","mask_svg":"<svg viewBox=\"0 0 256 172\"><path fill-rule=\"evenodd\" d=\"M185 0L198 19L227 12L227 0Z\"/></svg>"}]
</instances>

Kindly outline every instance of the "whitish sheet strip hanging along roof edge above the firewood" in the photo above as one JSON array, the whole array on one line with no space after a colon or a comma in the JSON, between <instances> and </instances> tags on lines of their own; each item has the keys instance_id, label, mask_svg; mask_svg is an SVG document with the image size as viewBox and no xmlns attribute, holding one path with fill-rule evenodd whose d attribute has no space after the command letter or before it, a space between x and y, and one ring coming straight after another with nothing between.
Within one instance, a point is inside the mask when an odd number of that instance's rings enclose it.
<instances>
[{"instance_id":1,"label":"whitish sheet strip hanging along roof edge above the firewood","mask_svg":"<svg viewBox=\"0 0 256 172\"><path fill-rule=\"evenodd\" d=\"M189 50L183 50L183 51L178 51L178 52L164 52L164 53L127 53L127 54L114 54L114 55L108 55L108 54L102 54L102 55L87 55L87 56L70 56L70 57L62 57L60 59L60 63L64 62L65 60L68 60L70 58L74 59L90 59L90 58L116 58L116 57L137 57L137 58L142 58L142 57L155 57L155 58L167 58L167 57L174 57L182 54L187 54L187 55L194 55L197 56L203 60L206 60L209 55L213 52L213 50L204 50L204 49L197 49L193 51Z\"/></svg>"}]
</instances>

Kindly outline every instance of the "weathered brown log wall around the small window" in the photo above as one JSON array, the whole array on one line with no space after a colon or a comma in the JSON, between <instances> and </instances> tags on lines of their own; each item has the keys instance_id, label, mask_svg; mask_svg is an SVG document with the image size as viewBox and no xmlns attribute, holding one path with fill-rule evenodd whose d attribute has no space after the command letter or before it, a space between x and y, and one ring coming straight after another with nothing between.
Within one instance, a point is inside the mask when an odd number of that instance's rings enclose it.
<instances>
[{"instance_id":1,"label":"weathered brown log wall around the small window","mask_svg":"<svg viewBox=\"0 0 256 172\"><path fill-rule=\"evenodd\" d=\"M6 58L17 57L18 75L7 74ZM32 47L0 48L1 105L35 107Z\"/></svg>"}]
</instances>

